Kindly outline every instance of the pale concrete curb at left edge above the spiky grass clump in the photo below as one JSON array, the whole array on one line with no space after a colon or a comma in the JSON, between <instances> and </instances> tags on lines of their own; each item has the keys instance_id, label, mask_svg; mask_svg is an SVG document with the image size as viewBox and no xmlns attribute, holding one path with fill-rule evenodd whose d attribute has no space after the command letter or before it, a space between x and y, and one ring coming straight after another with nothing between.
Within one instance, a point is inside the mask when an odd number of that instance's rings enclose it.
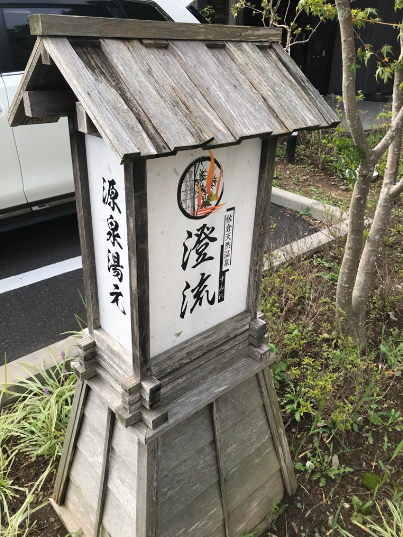
<instances>
[{"instance_id":1,"label":"pale concrete curb at left edge above the spiky grass clump","mask_svg":"<svg viewBox=\"0 0 403 537\"><path fill-rule=\"evenodd\" d=\"M70 361L72 358L77 356L77 337L69 336L62 339L59 342L53 343L45 347L45 349L40 349L39 351L32 352L27 354L19 360L14 360L5 366L0 367L0 388L5 389L6 391L14 393L24 393L23 387L19 384L21 379L29 379L32 376L40 376L40 373L34 371L29 367L42 367L42 362L46 371L52 369L56 364L62 364L63 359L61 356L62 351L66 355L66 359ZM27 371L23 368L27 368ZM16 396L10 396L5 391L0 394L0 408L4 407L6 404L10 404L16 400Z\"/></svg>"}]
</instances>

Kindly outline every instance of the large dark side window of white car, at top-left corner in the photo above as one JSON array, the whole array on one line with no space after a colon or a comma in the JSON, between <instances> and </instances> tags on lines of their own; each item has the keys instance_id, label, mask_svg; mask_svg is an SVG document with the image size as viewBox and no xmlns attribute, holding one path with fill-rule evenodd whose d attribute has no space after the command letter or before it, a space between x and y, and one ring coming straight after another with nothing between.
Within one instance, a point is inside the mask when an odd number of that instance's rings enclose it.
<instances>
[{"instance_id":1,"label":"large dark side window of white car, at top-left corner","mask_svg":"<svg viewBox=\"0 0 403 537\"><path fill-rule=\"evenodd\" d=\"M8 71L23 71L30 57L36 36L30 34L28 17L32 13L47 13L56 15L80 15L82 17L111 17L107 6L103 5L58 5L53 7L23 7L3 8L6 33L9 39L11 61Z\"/></svg>"}]
</instances>

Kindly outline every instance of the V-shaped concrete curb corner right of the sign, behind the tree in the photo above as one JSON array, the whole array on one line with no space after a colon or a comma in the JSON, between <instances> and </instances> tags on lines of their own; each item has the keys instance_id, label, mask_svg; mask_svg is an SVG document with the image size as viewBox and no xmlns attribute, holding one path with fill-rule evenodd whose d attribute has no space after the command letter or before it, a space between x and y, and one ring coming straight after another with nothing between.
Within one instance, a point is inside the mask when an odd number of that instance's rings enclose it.
<instances>
[{"instance_id":1,"label":"V-shaped concrete curb corner right of the sign, behind the tree","mask_svg":"<svg viewBox=\"0 0 403 537\"><path fill-rule=\"evenodd\" d=\"M263 271L268 270L270 267L277 268L280 265L284 265L290 259L310 256L312 253L330 246L338 238L347 235L348 214L338 207L322 204L319 201L276 187L272 189L271 202L280 207L293 209L298 213L308 211L313 219L328 223L329 227L273 250L270 258L267 256L268 259L265 260Z\"/></svg>"}]
</instances>

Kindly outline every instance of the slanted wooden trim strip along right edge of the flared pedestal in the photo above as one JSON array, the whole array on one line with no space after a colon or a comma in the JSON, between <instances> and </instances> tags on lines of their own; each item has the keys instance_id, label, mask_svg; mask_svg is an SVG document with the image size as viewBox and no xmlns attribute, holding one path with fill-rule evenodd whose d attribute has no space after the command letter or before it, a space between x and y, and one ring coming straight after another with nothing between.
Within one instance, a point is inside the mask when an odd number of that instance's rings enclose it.
<instances>
[{"instance_id":1,"label":"slanted wooden trim strip along right edge of the flared pedestal","mask_svg":"<svg viewBox=\"0 0 403 537\"><path fill-rule=\"evenodd\" d=\"M277 456L280 461L280 468L282 470L285 488L288 494L292 496L297 490L298 483L294 473L290 448L287 443L283 418L281 417L276 388L274 387L270 368L268 367L263 372L259 372L257 379L262 390L263 401L275 442Z\"/></svg>"}]
</instances>

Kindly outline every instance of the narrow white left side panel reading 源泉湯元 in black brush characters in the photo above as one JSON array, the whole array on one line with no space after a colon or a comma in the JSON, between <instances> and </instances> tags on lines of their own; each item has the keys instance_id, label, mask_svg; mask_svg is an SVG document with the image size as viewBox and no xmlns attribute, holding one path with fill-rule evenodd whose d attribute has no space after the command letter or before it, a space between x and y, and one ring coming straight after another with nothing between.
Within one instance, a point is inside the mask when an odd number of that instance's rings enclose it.
<instances>
[{"instance_id":1,"label":"narrow white left side panel reading \u6e90\u6cc9\u6e6f\u5143 in black brush characters","mask_svg":"<svg viewBox=\"0 0 403 537\"><path fill-rule=\"evenodd\" d=\"M124 169L105 142L85 135L101 327L132 350Z\"/></svg>"}]
</instances>

